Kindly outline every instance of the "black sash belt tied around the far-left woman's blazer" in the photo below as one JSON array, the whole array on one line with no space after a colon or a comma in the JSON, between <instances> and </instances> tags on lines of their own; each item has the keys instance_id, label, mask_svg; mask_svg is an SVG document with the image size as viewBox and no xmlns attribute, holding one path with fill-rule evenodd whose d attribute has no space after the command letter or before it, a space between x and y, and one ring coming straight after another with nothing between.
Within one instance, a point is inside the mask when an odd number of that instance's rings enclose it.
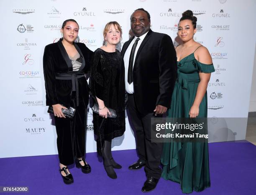
<instances>
[{"instance_id":1,"label":"black sash belt tied around the far-left woman's blazer","mask_svg":"<svg viewBox=\"0 0 256 195\"><path fill-rule=\"evenodd\" d=\"M56 73L58 80L72 80L72 92L76 92L77 106L79 105L79 87L78 79L84 77L84 71L69 71L65 73Z\"/></svg>"}]
</instances>

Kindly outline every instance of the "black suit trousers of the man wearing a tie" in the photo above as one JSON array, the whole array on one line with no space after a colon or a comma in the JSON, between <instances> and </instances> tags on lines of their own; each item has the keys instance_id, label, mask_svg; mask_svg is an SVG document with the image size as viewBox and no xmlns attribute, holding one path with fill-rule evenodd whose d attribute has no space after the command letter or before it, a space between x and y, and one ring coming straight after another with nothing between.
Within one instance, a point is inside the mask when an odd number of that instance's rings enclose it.
<instances>
[{"instance_id":1,"label":"black suit trousers of the man wearing a tie","mask_svg":"<svg viewBox=\"0 0 256 195\"><path fill-rule=\"evenodd\" d=\"M159 165L163 144L151 142L151 117L161 117L162 115L155 116L154 112L146 115L140 113L132 94L128 95L128 110L130 115L129 121L132 122L136 131L136 148L139 158L146 162L146 176L159 179L162 172Z\"/></svg>"}]
</instances>

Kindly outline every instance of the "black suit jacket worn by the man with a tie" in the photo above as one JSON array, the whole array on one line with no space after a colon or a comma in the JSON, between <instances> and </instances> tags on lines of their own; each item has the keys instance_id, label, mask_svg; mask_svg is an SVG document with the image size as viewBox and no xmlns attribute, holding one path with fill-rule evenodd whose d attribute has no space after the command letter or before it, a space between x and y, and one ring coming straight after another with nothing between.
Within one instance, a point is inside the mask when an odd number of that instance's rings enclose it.
<instances>
[{"instance_id":1,"label":"black suit jacket worn by the man with a tie","mask_svg":"<svg viewBox=\"0 0 256 195\"><path fill-rule=\"evenodd\" d=\"M130 45L122 48L122 56ZM138 111L154 112L156 105L170 107L177 78L177 56L171 37L149 30L136 54L133 88Z\"/></svg>"}]
</instances>

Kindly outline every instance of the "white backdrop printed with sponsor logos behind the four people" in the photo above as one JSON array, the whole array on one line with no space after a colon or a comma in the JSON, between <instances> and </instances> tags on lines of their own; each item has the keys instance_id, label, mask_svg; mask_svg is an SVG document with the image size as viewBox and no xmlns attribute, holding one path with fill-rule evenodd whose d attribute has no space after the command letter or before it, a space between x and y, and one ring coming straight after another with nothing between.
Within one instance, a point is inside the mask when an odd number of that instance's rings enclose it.
<instances>
[{"instance_id":1,"label":"white backdrop printed with sponsor logos behind the four people","mask_svg":"<svg viewBox=\"0 0 256 195\"><path fill-rule=\"evenodd\" d=\"M123 29L120 48L129 39L130 16L140 7L151 14L151 29L171 36L175 46L179 18L185 10L193 11L194 38L208 48L215 67L207 88L208 117L213 124L220 117L247 117L255 50L254 0L0 1L0 158L57 154L54 120L45 105L42 59L45 45L61 37L63 21L77 20L79 42L92 51L102 46L105 24L118 21ZM87 152L95 152L91 110L86 130ZM229 130L225 140L243 140L245 135L246 121ZM134 148L126 117L125 134L113 140L113 150Z\"/></svg>"}]
</instances>

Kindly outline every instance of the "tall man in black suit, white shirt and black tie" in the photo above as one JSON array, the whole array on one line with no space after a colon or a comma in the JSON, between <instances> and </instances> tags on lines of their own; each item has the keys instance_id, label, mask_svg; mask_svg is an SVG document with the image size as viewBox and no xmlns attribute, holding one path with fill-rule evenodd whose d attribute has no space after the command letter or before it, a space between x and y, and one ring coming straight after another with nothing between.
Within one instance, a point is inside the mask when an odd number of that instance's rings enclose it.
<instances>
[{"instance_id":1,"label":"tall man in black suit, white shirt and black tie","mask_svg":"<svg viewBox=\"0 0 256 195\"><path fill-rule=\"evenodd\" d=\"M145 165L147 180L142 192L154 190L161 177L162 143L151 142L151 117L162 117L171 105L177 77L177 57L171 37L150 29L150 15L143 8L131 15L135 36L125 42L125 90L128 93L130 121L136 130L139 159L129 166Z\"/></svg>"}]
</instances>

